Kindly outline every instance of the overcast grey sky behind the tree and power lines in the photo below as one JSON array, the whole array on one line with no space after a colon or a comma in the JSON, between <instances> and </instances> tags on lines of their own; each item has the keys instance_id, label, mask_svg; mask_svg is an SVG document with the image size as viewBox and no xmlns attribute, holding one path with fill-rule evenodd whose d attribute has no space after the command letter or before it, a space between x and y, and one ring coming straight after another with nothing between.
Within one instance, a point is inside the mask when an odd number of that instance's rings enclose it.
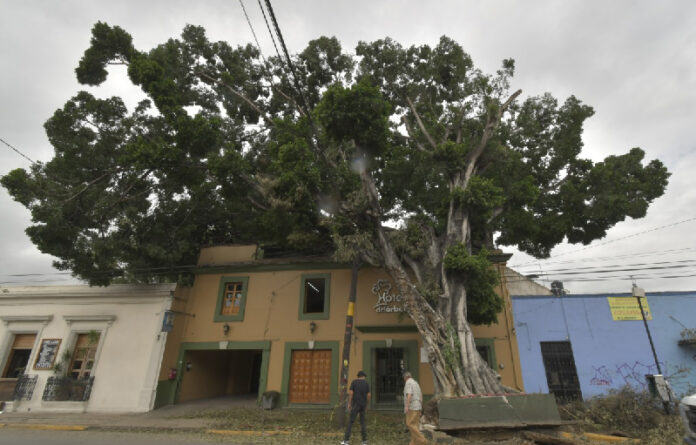
<instances>
[{"instance_id":1,"label":"overcast grey sky behind the tree and power lines","mask_svg":"<svg viewBox=\"0 0 696 445\"><path fill-rule=\"evenodd\" d=\"M244 4L270 54L258 3ZM560 245L544 261L503 247L514 253L509 264L562 280L574 294L629 291L631 274L647 291L696 290L696 276L685 277L696 275L696 2L275 0L273 6L291 53L322 35L336 36L352 52L360 40L389 36L403 45L433 45L444 34L486 72L515 59L512 87L525 96L574 94L593 106L584 156L597 161L641 147L672 173L667 192L645 218L618 224L590 246ZM211 40L253 42L238 0L0 0L0 138L35 161L53 156L43 123L87 89L74 68L97 21L123 27L140 50L179 36L187 23L205 27ZM90 91L130 104L140 97L123 76ZM0 175L29 165L0 143ZM69 282L25 235L30 223L29 212L0 188L0 285ZM37 275L18 276L24 274ZM656 278L666 276L681 277Z\"/></svg>"}]
</instances>

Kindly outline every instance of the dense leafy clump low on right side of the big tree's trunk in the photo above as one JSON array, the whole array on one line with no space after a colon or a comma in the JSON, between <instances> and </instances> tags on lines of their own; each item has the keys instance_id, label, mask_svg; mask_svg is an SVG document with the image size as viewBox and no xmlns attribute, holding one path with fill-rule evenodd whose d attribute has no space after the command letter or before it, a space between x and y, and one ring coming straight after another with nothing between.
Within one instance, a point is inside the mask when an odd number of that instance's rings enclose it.
<instances>
[{"instance_id":1,"label":"dense leafy clump low on right side of the big tree's trunk","mask_svg":"<svg viewBox=\"0 0 696 445\"><path fill-rule=\"evenodd\" d=\"M495 323L504 302L495 291L500 282L498 273L488 260L488 251L481 249L476 255L470 255L466 246L455 244L447 249L444 266L464 282L467 320L473 324Z\"/></svg>"}]
</instances>

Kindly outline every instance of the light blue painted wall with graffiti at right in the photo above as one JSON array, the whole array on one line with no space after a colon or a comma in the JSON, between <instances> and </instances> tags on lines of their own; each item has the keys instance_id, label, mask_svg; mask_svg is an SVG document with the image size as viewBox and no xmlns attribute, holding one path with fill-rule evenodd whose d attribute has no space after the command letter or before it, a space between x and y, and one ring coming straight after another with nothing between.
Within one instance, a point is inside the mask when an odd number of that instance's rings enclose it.
<instances>
[{"instance_id":1,"label":"light blue painted wall with graffiti at right","mask_svg":"<svg viewBox=\"0 0 696 445\"><path fill-rule=\"evenodd\" d=\"M570 341L583 398L628 384L646 389L656 374L643 321L614 321L607 297L630 294L512 296L525 391L548 392L540 342ZM679 346L684 327L696 328L695 292L648 293L648 327L675 394L696 388L696 347Z\"/></svg>"}]
</instances>

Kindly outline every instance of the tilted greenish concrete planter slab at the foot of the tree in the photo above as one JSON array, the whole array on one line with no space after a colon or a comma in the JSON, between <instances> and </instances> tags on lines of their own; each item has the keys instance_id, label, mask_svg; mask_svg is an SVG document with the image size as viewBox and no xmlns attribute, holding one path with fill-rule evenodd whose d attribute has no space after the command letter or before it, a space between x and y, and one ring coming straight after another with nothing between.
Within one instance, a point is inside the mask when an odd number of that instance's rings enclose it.
<instances>
[{"instance_id":1,"label":"tilted greenish concrete planter slab at the foot of the tree","mask_svg":"<svg viewBox=\"0 0 696 445\"><path fill-rule=\"evenodd\" d=\"M439 429L521 428L561 424L551 394L520 394L442 399Z\"/></svg>"}]
</instances>

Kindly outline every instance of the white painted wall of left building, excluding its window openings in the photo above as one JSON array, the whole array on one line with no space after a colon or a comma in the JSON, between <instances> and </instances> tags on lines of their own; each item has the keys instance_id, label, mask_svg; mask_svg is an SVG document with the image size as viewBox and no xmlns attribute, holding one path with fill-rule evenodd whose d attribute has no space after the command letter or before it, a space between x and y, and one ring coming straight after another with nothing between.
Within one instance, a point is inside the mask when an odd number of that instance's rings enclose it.
<instances>
[{"instance_id":1,"label":"white painted wall of left building, excluding its window openings","mask_svg":"<svg viewBox=\"0 0 696 445\"><path fill-rule=\"evenodd\" d=\"M0 370L16 333L36 332L25 373L38 375L29 401L14 411L144 412L152 409L166 333L164 311L175 285L36 286L0 288ZM101 332L94 386L87 402L42 400L49 370L34 370L41 340L61 339L56 361L72 351L79 333Z\"/></svg>"}]
</instances>

